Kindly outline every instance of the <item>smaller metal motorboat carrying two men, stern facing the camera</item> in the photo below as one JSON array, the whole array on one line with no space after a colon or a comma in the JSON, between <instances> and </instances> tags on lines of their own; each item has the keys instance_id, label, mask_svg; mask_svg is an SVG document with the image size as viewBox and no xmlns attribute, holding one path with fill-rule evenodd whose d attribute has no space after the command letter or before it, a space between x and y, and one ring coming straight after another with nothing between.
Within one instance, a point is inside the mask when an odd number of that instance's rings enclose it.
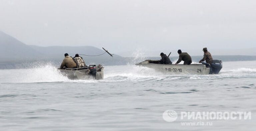
<instances>
[{"instance_id":1,"label":"smaller metal motorboat carrying two men, stern facing the camera","mask_svg":"<svg viewBox=\"0 0 256 131\"><path fill-rule=\"evenodd\" d=\"M104 78L104 67L102 65L90 65L82 68L59 69L69 79L96 79Z\"/></svg>"}]
</instances>

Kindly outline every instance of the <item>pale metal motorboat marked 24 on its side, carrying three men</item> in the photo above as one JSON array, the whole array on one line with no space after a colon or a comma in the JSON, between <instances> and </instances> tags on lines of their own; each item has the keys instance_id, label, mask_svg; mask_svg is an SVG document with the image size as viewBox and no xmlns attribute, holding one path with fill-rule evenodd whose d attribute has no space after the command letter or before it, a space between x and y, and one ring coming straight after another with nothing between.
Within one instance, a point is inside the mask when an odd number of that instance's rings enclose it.
<instances>
[{"instance_id":1,"label":"pale metal motorboat marked 24 on its side, carrying three men","mask_svg":"<svg viewBox=\"0 0 256 131\"><path fill-rule=\"evenodd\" d=\"M213 60L212 67L207 67L206 64L159 64L158 60L145 60L137 63L138 66L153 68L156 71L163 72L164 74L180 74L180 75L208 75L218 74L222 68L222 61Z\"/></svg>"}]
</instances>

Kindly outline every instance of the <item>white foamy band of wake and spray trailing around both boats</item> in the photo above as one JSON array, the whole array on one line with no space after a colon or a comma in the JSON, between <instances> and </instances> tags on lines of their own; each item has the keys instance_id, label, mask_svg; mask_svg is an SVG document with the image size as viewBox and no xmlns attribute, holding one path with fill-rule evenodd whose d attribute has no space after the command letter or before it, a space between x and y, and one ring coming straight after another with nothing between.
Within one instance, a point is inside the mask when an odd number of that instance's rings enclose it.
<instances>
[{"instance_id":1,"label":"white foamy band of wake and spray trailing around both boats","mask_svg":"<svg viewBox=\"0 0 256 131\"><path fill-rule=\"evenodd\" d=\"M31 69L16 69L15 76L9 83L98 83L98 82L153 82L153 81L189 81L189 80L216 80L256 78L256 69L237 68L222 70L218 75L166 75L156 72L154 69L135 65L107 66L105 67L103 80L70 80L63 76L57 67L48 63ZM7 82L8 83L8 82Z\"/></svg>"}]
</instances>

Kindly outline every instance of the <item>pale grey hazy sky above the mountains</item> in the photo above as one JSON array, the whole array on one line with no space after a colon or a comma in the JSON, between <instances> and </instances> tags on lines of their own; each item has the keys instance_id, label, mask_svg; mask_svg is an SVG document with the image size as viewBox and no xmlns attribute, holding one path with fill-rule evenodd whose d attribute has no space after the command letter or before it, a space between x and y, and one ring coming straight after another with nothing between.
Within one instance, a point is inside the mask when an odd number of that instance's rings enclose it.
<instances>
[{"instance_id":1,"label":"pale grey hazy sky above the mountains","mask_svg":"<svg viewBox=\"0 0 256 131\"><path fill-rule=\"evenodd\" d=\"M0 0L0 30L30 45L104 46L124 56L252 49L256 0Z\"/></svg>"}]
</instances>

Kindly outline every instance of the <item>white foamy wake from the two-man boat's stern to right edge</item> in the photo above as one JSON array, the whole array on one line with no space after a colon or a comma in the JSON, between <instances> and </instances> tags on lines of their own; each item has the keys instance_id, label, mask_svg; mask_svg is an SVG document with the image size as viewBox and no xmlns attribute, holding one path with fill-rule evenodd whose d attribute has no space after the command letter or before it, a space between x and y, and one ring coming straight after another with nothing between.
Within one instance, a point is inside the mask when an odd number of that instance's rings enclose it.
<instances>
[{"instance_id":1,"label":"white foamy wake from the two-man boat's stern to right edge","mask_svg":"<svg viewBox=\"0 0 256 131\"><path fill-rule=\"evenodd\" d=\"M216 75L167 75L156 72L147 67L130 66L127 70L105 73L101 82L148 82L148 81L173 81L173 80L216 80L236 78L256 78L256 69L238 68L223 70Z\"/></svg>"}]
</instances>

